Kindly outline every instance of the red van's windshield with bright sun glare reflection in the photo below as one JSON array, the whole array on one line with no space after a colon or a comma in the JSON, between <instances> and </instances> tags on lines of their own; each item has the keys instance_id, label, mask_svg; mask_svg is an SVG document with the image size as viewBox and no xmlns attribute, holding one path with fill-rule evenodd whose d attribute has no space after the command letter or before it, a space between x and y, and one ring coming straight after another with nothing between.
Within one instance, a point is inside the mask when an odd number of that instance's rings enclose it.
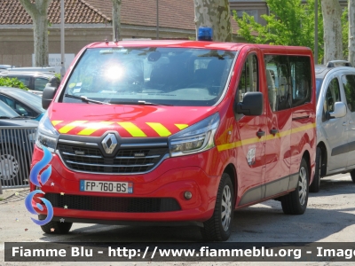
<instances>
[{"instance_id":1,"label":"red van's windshield with bright sun glare reflection","mask_svg":"<svg viewBox=\"0 0 355 266\"><path fill-rule=\"evenodd\" d=\"M213 106L235 56L235 51L189 48L88 49L70 75L63 102Z\"/></svg>"}]
</instances>

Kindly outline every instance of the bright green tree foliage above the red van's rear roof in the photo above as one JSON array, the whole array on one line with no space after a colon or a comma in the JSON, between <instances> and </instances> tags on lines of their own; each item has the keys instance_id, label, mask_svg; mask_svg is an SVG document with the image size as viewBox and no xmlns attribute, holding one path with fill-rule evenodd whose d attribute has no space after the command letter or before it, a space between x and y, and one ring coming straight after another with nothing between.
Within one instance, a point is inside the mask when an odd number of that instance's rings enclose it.
<instances>
[{"instance_id":1,"label":"bright green tree foliage above the red van's rear roof","mask_svg":"<svg viewBox=\"0 0 355 266\"><path fill-rule=\"evenodd\" d=\"M265 0L270 15L262 15L263 26L254 17L243 13L239 19L234 12L234 20L239 24L238 34L248 43L270 43L275 45L307 46L314 49L314 0L302 4L301 0ZM323 19L319 4L319 58L323 55Z\"/></svg>"}]
</instances>

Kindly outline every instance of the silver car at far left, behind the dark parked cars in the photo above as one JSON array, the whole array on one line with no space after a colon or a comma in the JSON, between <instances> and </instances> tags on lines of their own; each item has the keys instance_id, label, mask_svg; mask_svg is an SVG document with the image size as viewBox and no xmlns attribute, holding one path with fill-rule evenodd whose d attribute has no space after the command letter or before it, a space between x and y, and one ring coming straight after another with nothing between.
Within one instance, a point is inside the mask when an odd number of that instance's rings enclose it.
<instances>
[{"instance_id":1,"label":"silver car at far left, behind the dark parked cars","mask_svg":"<svg viewBox=\"0 0 355 266\"><path fill-rule=\"evenodd\" d=\"M17 78L31 92L42 96L45 85L54 77L54 73L4 71L0 72L0 77Z\"/></svg>"}]
</instances>

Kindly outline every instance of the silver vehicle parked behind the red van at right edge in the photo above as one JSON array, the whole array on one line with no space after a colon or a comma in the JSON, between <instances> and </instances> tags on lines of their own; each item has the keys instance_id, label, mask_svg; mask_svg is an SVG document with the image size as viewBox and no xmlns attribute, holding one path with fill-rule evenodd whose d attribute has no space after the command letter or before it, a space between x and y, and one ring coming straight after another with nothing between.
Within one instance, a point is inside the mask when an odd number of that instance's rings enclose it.
<instances>
[{"instance_id":1,"label":"silver vehicle parked behind the red van at right edge","mask_svg":"<svg viewBox=\"0 0 355 266\"><path fill-rule=\"evenodd\" d=\"M315 71L317 153L310 192L319 192L324 176L350 172L355 182L355 68L335 60Z\"/></svg>"}]
</instances>

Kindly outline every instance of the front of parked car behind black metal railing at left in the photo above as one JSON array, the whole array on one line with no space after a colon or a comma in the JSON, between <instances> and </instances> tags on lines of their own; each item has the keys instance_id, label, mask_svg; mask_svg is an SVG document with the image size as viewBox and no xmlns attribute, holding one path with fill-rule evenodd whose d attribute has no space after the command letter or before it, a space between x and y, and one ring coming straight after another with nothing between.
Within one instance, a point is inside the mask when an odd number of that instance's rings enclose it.
<instances>
[{"instance_id":1,"label":"front of parked car behind black metal railing at left","mask_svg":"<svg viewBox=\"0 0 355 266\"><path fill-rule=\"evenodd\" d=\"M38 122L25 119L0 101L0 180L3 186L28 185Z\"/></svg>"}]
</instances>

